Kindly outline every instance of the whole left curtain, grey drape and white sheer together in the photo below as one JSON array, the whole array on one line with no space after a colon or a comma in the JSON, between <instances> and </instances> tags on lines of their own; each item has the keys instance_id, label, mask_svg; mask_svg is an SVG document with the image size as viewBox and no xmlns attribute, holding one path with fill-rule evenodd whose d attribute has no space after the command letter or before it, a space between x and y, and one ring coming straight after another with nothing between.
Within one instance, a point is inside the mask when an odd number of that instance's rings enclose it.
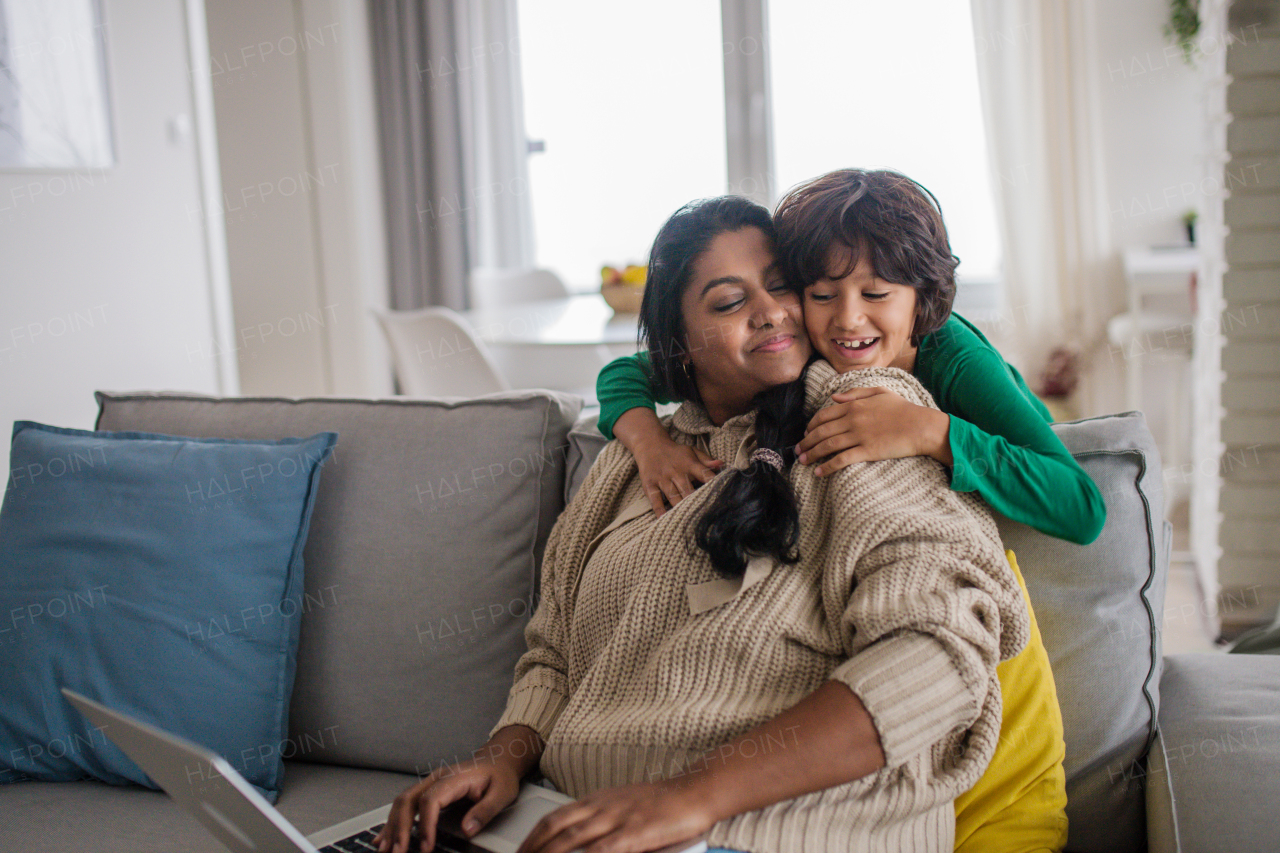
<instances>
[{"instance_id":1,"label":"whole left curtain, grey drape and white sheer together","mask_svg":"<svg viewBox=\"0 0 1280 853\"><path fill-rule=\"evenodd\" d=\"M531 266L515 0L369 0L390 305L470 306L476 266Z\"/></svg>"}]
</instances>

